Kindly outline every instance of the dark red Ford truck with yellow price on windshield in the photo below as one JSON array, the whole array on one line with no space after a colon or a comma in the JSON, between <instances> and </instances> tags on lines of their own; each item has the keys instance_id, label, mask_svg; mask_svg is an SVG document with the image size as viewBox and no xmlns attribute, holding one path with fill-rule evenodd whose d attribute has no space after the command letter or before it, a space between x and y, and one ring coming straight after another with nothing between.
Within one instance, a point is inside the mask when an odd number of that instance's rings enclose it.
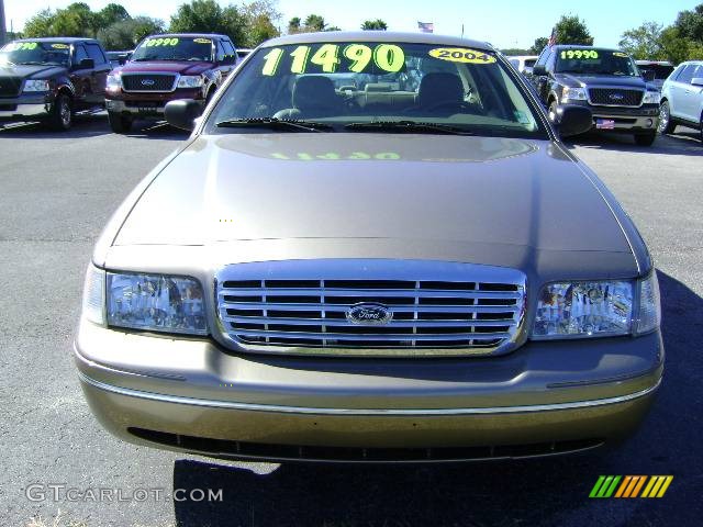
<instances>
[{"instance_id":1,"label":"dark red Ford truck with yellow price on windshield","mask_svg":"<svg viewBox=\"0 0 703 527\"><path fill-rule=\"evenodd\" d=\"M163 119L176 99L203 106L238 61L228 36L168 34L146 37L108 79L105 105L113 132L125 133L136 117Z\"/></svg>"}]
</instances>

